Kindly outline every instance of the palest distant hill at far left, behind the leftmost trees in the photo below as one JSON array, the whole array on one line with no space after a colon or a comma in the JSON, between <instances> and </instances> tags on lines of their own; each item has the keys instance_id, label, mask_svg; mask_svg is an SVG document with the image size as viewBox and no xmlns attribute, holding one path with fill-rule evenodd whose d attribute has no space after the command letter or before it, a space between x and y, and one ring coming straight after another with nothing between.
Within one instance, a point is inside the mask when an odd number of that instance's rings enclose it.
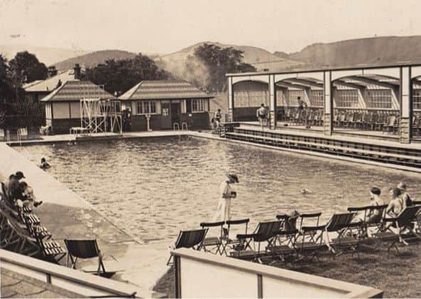
<instances>
[{"instance_id":1,"label":"palest distant hill at far left, behind the leftmost trees","mask_svg":"<svg viewBox=\"0 0 421 299\"><path fill-rule=\"evenodd\" d=\"M3 54L8 60L14 58L17 52L28 51L36 55L41 63L45 63L47 66L56 63L57 61L63 61L68 58L80 56L90 51L84 50L73 50L73 49L62 49L62 48L47 48L38 46L28 45L0 45L0 53Z\"/></svg>"}]
</instances>

